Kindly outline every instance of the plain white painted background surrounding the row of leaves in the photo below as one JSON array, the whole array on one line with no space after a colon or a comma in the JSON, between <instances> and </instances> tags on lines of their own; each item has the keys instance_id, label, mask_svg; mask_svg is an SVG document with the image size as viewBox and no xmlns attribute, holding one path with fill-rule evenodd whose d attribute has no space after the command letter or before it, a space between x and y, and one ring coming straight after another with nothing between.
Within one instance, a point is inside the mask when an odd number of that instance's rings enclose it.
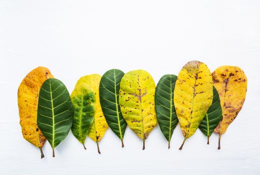
<instances>
[{"instance_id":1,"label":"plain white painted background surrounding the row of leaves","mask_svg":"<svg viewBox=\"0 0 260 175\"><path fill-rule=\"evenodd\" d=\"M260 0L0 0L0 174L260 174ZM149 71L157 83L190 60L211 71L240 66L248 77L243 109L222 136L207 145L200 130L178 150L159 126L146 140L127 128L120 139L107 129L87 150L70 132L52 158L23 139L17 88L41 65L71 92L83 75Z\"/></svg>"}]
</instances>

